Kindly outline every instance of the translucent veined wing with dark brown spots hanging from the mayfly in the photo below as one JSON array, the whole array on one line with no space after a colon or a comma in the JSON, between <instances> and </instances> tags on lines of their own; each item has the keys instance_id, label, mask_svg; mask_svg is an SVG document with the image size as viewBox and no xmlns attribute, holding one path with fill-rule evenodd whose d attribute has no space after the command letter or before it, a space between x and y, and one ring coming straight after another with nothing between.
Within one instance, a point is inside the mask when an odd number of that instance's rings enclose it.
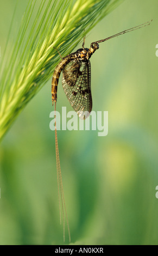
<instances>
[{"instance_id":1,"label":"translucent veined wing with dark brown spots hanging from the mayfly","mask_svg":"<svg viewBox=\"0 0 158 256\"><path fill-rule=\"evenodd\" d=\"M87 118L92 110L90 60L69 62L63 69L62 87L74 111L81 119Z\"/></svg>"}]
</instances>

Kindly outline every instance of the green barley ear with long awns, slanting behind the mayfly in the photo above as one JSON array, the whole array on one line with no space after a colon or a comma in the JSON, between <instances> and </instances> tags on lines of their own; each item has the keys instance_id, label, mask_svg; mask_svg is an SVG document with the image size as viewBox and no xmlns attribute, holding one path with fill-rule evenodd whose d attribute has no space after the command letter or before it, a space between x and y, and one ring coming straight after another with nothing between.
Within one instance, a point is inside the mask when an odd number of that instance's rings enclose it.
<instances>
[{"instance_id":1,"label":"green barley ear with long awns, slanting behind the mayfly","mask_svg":"<svg viewBox=\"0 0 158 256\"><path fill-rule=\"evenodd\" d=\"M53 75L60 60L54 47L60 47L62 56L71 53L84 34L122 1L29 1L15 45L8 52L8 39L7 51L1 54L0 139L24 106Z\"/></svg>"}]
</instances>

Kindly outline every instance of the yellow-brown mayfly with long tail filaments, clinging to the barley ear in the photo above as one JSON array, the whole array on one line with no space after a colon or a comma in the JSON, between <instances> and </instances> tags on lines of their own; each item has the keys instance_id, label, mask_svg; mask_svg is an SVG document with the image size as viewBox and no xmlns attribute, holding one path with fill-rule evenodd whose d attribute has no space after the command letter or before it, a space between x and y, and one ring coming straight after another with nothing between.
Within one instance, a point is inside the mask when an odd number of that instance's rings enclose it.
<instances>
[{"instance_id":1,"label":"yellow-brown mayfly with long tail filaments, clinging to the barley ear","mask_svg":"<svg viewBox=\"0 0 158 256\"><path fill-rule=\"evenodd\" d=\"M152 20L151 20L152 21ZM90 58L92 54L98 50L100 42L104 42L116 36L135 31L136 29L150 25L150 22L143 23L139 26L126 29L115 35L109 36L108 38L98 40L91 43L90 48L85 48L85 38L82 48L78 49L76 52L68 54L66 57L62 58L61 62L56 66L52 78L52 103L55 102L55 112L56 112L56 100L57 100L57 88L59 77L62 71L62 87L67 96L69 103L73 107L74 111L78 113L81 119L87 118L92 110L92 95L91 95L91 64ZM58 196L60 204L60 194L61 194L61 206L62 206L62 217L64 222L64 241L65 241L65 215L68 227L69 241L71 240L69 232L68 217L66 211L66 204L64 199L64 190L62 186L61 169L59 161L59 149L58 149L58 139L56 131L56 116L55 116L55 148L56 148L56 168L58 177ZM60 189L60 194L59 194ZM61 209L60 209L60 223L61 223Z\"/></svg>"}]
</instances>

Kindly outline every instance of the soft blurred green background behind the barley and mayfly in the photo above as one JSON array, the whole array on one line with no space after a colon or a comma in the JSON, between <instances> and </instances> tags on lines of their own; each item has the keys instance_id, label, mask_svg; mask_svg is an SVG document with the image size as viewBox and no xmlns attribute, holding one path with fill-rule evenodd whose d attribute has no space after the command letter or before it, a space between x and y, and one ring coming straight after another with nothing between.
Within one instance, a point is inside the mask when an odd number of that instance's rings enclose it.
<instances>
[{"instance_id":1,"label":"soft blurred green background behind the barley and mayfly","mask_svg":"<svg viewBox=\"0 0 158 256\"><path fill-rule=\"evenodd\" d=\"M0 2L2 56L16 1ZM27 2L20 1L17 28ZM98 131L58 131L75 245L158 243L157 9L156 0L127 0L86 37L89 47L92 41L153 19L148 27L100 44L91 58L93 111L109 112L108 136L98 137ZM49 129L51 80L1 143L1 245L63 243L55 140ZM59 112L62 106L72 110L60 78Z\"/></svg>"}]
</instances>

